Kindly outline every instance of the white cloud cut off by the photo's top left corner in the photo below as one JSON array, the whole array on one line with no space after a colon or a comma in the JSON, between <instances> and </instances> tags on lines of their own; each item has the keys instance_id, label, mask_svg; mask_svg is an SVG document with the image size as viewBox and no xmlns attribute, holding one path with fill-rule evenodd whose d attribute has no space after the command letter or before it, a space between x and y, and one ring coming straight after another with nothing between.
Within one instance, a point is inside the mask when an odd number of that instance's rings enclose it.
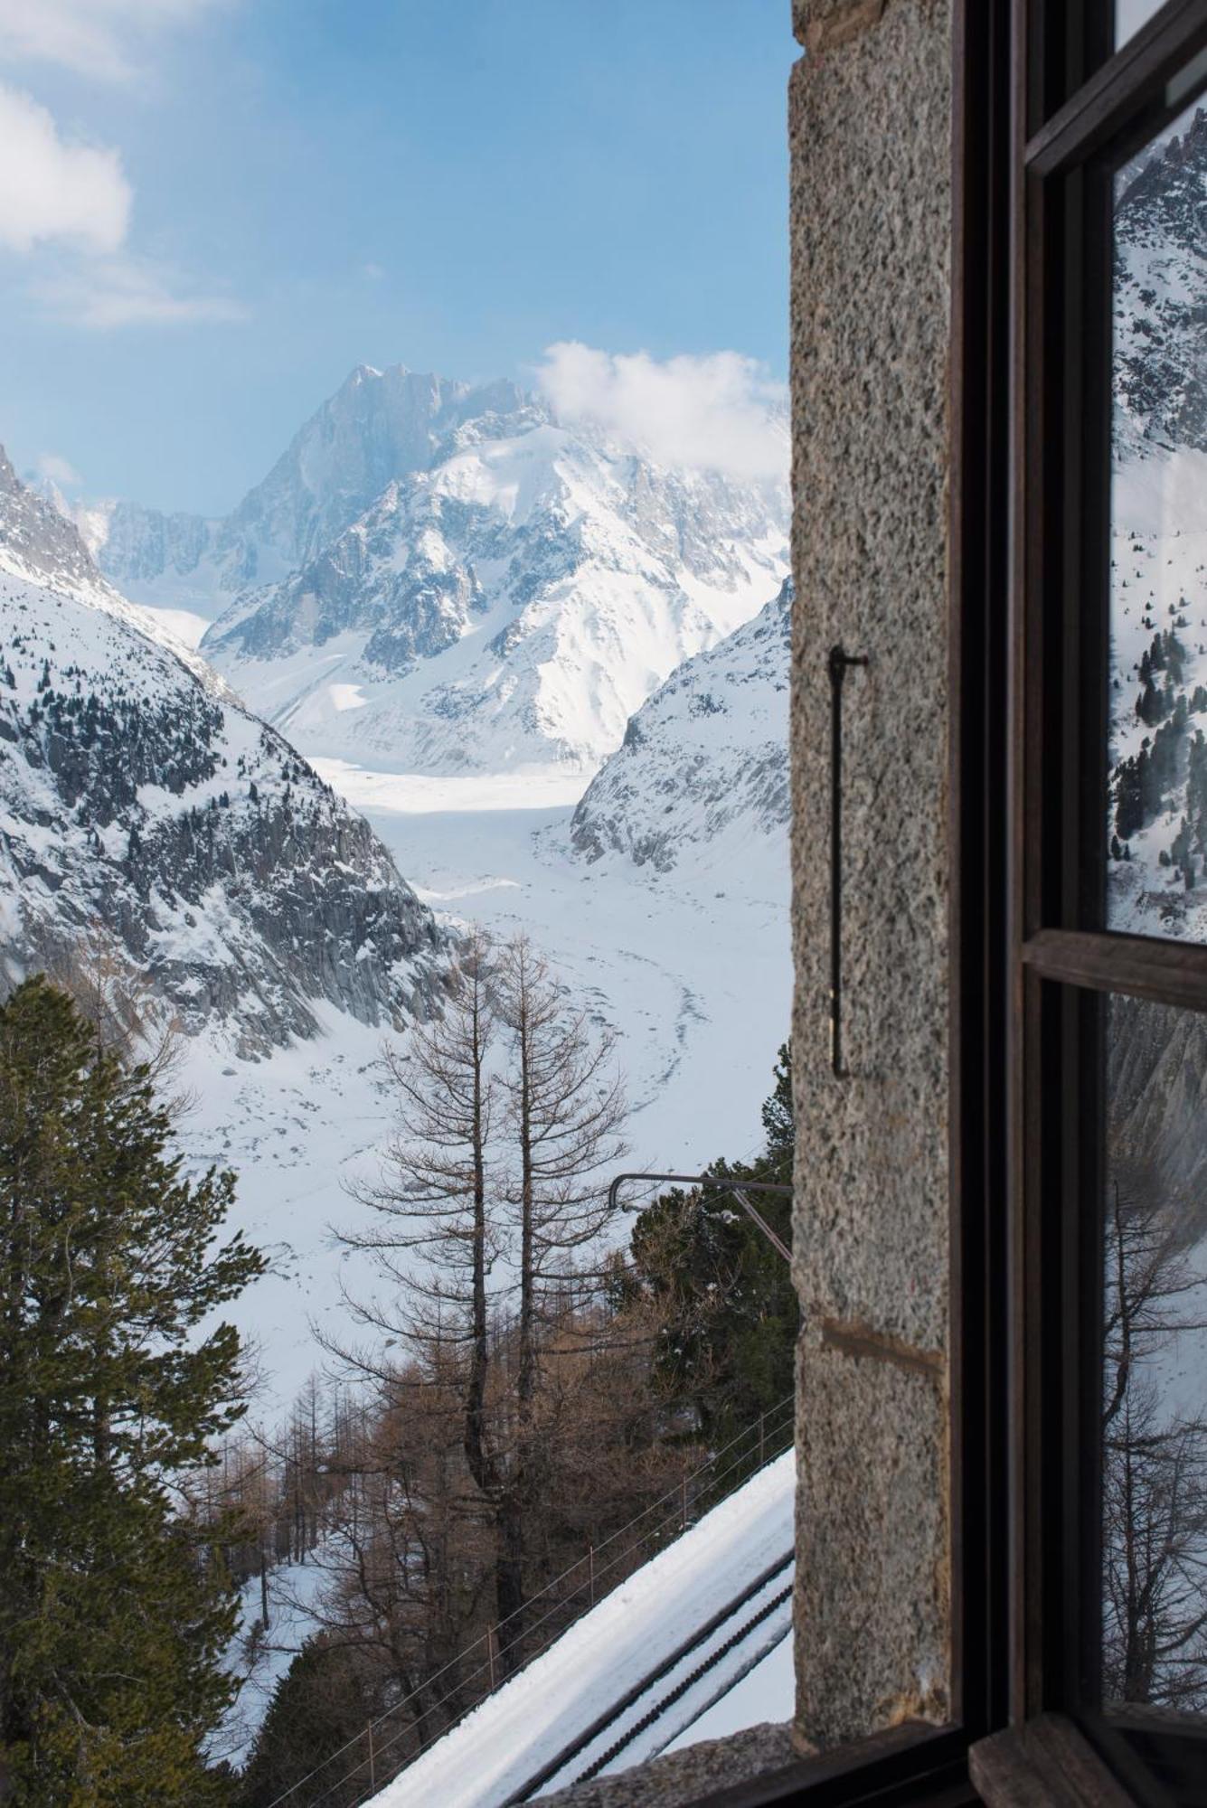
<instances>
[{"instance_id":1,"label":"white cloud cut off by the photo's top left corner","mask_svg":"<svg viewBox=\"0 0 1207 1808\"><path fill-rule=\"evenodd\" d=\"M184 24L215 0L0 0L0 58L42 61L83 76L136 74L141 40Z\"/></svg>"}]
</instances>

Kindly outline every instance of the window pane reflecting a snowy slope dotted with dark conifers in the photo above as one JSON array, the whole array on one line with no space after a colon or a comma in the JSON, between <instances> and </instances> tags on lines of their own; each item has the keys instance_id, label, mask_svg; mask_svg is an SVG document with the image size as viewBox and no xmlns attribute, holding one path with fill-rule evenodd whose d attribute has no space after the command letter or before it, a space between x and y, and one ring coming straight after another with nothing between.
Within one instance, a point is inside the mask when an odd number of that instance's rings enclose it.
<instances>
[{"instance_id":1,"label":"window pane reflecting a snowy slope dotted with dark conifers","mask_svg":"<svg viewBox=\"0 0 1207 1808\"><path fill-rule=\"evenodd\" d=\"M1115 183L1108 926L1207 940L1207 112Z\"/></svg>"}]
</instances>

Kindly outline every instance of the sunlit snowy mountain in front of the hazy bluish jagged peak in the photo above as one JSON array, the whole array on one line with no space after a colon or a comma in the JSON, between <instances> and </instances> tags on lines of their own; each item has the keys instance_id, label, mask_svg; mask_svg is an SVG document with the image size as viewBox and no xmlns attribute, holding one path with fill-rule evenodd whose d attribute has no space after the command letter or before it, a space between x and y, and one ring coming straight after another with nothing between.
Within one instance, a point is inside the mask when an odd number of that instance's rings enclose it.
<instances>
[{"instance_id":1,"label":"sunlit snowy mountain in front of the hazy bluish jagged peak","mask_svg":"<svg viewBox=\"0 0 1207 1808\"><path fill-rule=\"evenodd\" d=\"M594 770L649 692L782 573L772 512L721 477L551 423L473 432L208 633L213 664L307 752Z\"/></svg>"}]
</instances>

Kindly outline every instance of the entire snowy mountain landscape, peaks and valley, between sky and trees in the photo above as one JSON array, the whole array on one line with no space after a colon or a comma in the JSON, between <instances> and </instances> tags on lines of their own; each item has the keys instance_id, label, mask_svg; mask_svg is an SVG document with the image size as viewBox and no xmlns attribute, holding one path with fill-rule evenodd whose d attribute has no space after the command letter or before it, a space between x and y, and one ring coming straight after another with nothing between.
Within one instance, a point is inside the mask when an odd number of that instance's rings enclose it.
<instances>
[{"instance_id":1,"label":"entire snowy mountain landscape, peaks and valley, between sky and trees","mask_svg":"<svg viewBox=\"0 0 1207 1808\"><path fill-rule=\"evenodd\" d=\"M791 1005L777 497L486 400L502 418L360 372L226 523L69 519L0 459L0 975L96 969L134 1043L170 1034L186 1164L233 1170L231 1228L267 1257L220 1307L264 1450L381 1285L356 1237L398 1128L383 1054L439 1018L472 928L528 935L614 1040L622 1166L766 1144ZM251 1566L213 1757L248 1757L314 1631L322 1537Z\"/></svg>"}]
</instances>

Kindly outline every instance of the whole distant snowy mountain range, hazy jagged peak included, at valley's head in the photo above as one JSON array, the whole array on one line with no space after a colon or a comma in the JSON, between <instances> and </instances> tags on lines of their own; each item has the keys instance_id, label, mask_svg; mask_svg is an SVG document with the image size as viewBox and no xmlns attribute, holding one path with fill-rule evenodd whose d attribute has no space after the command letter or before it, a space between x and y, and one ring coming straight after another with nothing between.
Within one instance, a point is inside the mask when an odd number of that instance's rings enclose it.
<instances>
[{"instance_id":1,"label":"whole distant snowy mountain range, hazy jagged peak included, at valley's head","mask_svg":"<svg viewBox=\"0 0 1207 1808\"><path fill-rule=\"evenodd\" d=\"M511 383L358 367L222 521L80 513L309 754L591 774L788 568L786 483L661 468Z\"/></svg>"}]
</instances>

